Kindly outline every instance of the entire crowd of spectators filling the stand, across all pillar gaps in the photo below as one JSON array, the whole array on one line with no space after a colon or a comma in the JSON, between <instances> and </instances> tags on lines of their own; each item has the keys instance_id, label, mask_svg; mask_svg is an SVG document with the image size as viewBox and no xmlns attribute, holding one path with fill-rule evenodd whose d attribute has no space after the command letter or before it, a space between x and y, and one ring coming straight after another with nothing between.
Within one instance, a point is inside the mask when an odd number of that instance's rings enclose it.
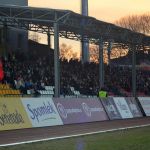
<instances>
[{"instance_id":1,"label":"entire crowd of spectators filling the stand, across all pillar gaps","mask_svg":"<svg viewBox=\"0 0 150 150\"><path fill-rule=\"evenodd\" d=\"M9 53L3 58L4 83L19 89L23 94L27 90L38 94L45 86L54 86L53 56L40 57L36 53ZM99 90L98 64L82 64L78 60L60 61L60 86L62 95L71 95L70 87L83 95L97 95ZM130 67L105 66L105 85L107 91L117 96L132 91L132 73ZM150 71L137 70L137 91L150 95Z\"/></svg>"}]
</instances>

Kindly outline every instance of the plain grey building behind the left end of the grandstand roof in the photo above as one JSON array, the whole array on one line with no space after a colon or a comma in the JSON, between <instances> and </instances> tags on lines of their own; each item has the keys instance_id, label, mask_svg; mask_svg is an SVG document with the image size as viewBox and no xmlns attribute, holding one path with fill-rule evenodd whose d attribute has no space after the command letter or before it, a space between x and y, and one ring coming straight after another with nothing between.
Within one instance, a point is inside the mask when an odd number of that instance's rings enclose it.
<instances>
[{"instance_id":1,"label":"plain grey building behind the left end of the grandstand roof","mask_svg":"<svg viewBox=\"0 0 150 150\"><path fill-rule=\"evenodd\" d=\"M28 6L28 0L0 0L0 5L18 5L18 6ZM4 31L6 29L6 32ZM8 43L7 48L2 46L3 49L8 50L27 50L28 49L28 32L19 30L16 28L10 28L8 26L0 26L1 30L1 45L5 42Z\"/></svg>"}]
</instances>

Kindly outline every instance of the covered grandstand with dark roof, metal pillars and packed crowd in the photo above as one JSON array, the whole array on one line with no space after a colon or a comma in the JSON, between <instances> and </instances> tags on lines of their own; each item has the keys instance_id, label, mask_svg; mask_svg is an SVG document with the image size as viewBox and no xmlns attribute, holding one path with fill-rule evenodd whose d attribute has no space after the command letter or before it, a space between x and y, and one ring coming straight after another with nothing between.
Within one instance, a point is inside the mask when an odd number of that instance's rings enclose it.
<instances>
[{"instance_id":1,"label":"covered grandstand with dark roof, metal pillars and packed crowd","mask_svg":"<svg viewBox=\"0 0 150 150\"><path fill-rule=\"evenodd\" d=\"M148 36L117 27L113 24L101 22L91 17L81 16L71 11L41 10L40 8L32 7L1 6L1 25L5 24L4 27L43 32L47 33L47 35L54 35L55 38L55 50L51 49L50 51L49 46L46 47L38 43L33 44L31 41L28 42L29 50L26 49L26 51L23 49L18 51L17 48L11 47L11 45L7 43L6 48L8 45L10 48L5 49L7 54L2 55L4 78L1 82L3 84L9 85L8 87L14 90L19 90L18 93L20 93L21 96L54 96L54 94L55 96L96 96L98 90L104 84L110 95L131 96L135 95L136 90L137 94L150 94L149 70L141 71L139 68L137 69L137 75L135 74L136 56L138 63L143 57L147 57L149 61L149 50L147 54L142 54L143 51L138 50L138 54L135 52L135 49L139 47L139 49L141 49L141 45L149 47ZM47 16L47 14L51 14L50 17ZM57 20L54 18L55 14L59 16ZM82 19L88 22L88 25L84 28L85 35L79 32L80 28L83 28L82 26L80 27L80 20ZM71 23L70 20L74 21L74 23ZM90 22L92 24L90 24ZM31 25L31 23L33 25ZM26 26L26 24L29 25ZM79 29L77 27L79 27ZM97 32L95 32L95 27L98 28ZM101 30L102 28L103 30ZM68 29L70 31L67 31ZM64 35L65 32L68 36ZM98 36L99 33L101 35L100 37ZM101 57L103 51L101 50L99 64L82 64L78 60L70 60L69 62L59 60L58 36L80 40L80 36L77 36L77 34L79 34L82 39L84 37L85 41L88 40L91 43L98 44L100 49L103 49L103 46L107 47L109 42L111 42L114 46L120 46L121 44L126 45L128 48L131 48L131 50L128 55L125 56L126 58L121 57L112 60L112 64L114 65L111 66L104 65L103 58ZM2 40L3 38L1 38L1 41ZM4 40L4 43L5 42ZM47 49L45 53L43 53L43 49ZM121 65L121 62L125 62L128 65L130 64L133 67L117 67L115 65L115 63ZM59 65L61 65L61 67L59 67ZM9 95L10 93L7 91L5 95Z\"/></svg>"}]
</instances>

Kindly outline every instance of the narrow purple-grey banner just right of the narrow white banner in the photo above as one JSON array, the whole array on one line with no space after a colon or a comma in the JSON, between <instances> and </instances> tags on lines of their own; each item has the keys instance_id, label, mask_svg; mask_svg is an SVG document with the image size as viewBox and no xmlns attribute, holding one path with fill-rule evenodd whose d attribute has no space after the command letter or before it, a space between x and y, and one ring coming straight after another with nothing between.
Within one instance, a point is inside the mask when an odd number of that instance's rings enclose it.
<instances>
[{"instance_id":1,"label":"narrow purple-grey banner just right of the narrow white banner","mask_svg":"<svg viewBox=\"0 0 150 150\"><path fill-rule=\"evenodd\" d=\"M125 100L132 112L133 117L142 117L143 116L135 98L125 97Z\"/></svg>"}]
</instances>

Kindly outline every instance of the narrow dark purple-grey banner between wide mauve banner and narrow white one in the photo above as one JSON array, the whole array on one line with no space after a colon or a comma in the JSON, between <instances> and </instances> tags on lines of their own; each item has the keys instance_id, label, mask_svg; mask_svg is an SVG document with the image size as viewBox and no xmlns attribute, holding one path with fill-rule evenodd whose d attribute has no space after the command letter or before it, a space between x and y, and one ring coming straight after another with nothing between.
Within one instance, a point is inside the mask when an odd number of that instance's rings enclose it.
<instances>
[{"instance_id":1,"label":"narrow dark purple-grey banner between wide mauve banner and narrow white one","mask_svg":"<svg viewBox=\"0 0 150 150\"><path fill-rule=\"evenodd\" d=\"M103 106L105 107L105 110L106 110L110 120L122 119L119 111L117 110L117 107L114 103L113 98L108 97L106 99L101 99L101 102L102 102Z\"/></svg>"}]
</instances>

